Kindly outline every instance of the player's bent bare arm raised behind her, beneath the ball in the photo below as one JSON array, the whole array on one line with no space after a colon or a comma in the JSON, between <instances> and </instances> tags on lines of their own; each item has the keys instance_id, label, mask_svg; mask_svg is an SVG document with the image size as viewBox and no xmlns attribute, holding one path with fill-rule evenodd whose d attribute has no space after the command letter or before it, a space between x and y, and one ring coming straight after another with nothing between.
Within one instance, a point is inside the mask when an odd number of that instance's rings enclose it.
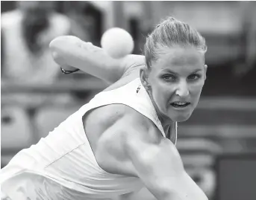
<instances>
[{"instance_id":1,"label":"player's bent bare arm raised behind her, beneath the ball","mask_svg":"<svg viewBox=\"0 0 256 200\"><path fill-rule=\"evenodd\" d=\"M102 48L75 36L57 37L51 41L50 49L54 61L64 69L79 68L107 83L119 80L133 63L144 62L144 57L139 55L113 59Z\"/></svg>"}]
</instances>

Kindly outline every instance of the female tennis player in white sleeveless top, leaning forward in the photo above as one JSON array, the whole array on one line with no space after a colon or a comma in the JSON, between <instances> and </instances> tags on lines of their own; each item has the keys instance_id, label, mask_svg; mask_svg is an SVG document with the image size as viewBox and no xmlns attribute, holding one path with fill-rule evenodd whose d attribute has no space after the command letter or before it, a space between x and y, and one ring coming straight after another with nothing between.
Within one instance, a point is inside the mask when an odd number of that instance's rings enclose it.
<instances>
[{"instance_id":1,"label":"female tennis player in white sleeveless top, leaning forward","mask_svg":"<svg viewBox=\"0 0 256 200\"><path fill-rule=\"evenodd\" d=\"M196 108L205 39L169 17L146 39L145 57L109 57L74 36L50 48L64 71L112 83L1 170L10 199L122 199L146 187L159 200L205 200L175 148L177 122ZM76 71L76 70L75 70Z\"/></svg>"}]
</instances>

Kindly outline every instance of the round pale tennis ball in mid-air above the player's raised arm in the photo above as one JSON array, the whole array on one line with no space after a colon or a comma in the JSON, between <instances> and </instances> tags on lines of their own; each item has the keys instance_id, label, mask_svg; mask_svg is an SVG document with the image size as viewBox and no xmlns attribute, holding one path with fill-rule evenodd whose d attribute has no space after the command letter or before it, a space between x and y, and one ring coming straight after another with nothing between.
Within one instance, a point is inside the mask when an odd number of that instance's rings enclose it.
<instances>
[{"instance_id":1,"label":"round pale tennis ball in mid-air above the player's raised arm","mask_svg":"<svg viewBox=\"0 0 256 200\"><path fill-rule=\"evenodd\" d=\"M134 39L122 28L110 28L102 35L101 45L110 57L119 59L131 54L134 50Z\"/></svg>"}]
</instances>

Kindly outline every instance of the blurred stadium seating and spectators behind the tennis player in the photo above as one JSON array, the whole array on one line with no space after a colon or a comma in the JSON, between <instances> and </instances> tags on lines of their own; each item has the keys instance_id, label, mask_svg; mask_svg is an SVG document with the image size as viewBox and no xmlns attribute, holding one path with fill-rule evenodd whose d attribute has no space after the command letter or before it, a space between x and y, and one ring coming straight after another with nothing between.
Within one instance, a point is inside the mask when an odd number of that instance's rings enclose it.
<instances>
[{"instance_id":1,"label":"blurred stadium seating and spectators behind the tennis player","mask_svg":"<svg viewBox=\"0 0 256 200\"><path fill-rule=\"evenodd\" d=\"M51 39L100 46L104 31L119 27L143 54L147 34L174 16L208 46L199 106L178 126L184 167L209 199L255 200L255 10L255 1L1 1L1 167L107 87L89 74L61 74Z\"/></svg>"}]
</instances>

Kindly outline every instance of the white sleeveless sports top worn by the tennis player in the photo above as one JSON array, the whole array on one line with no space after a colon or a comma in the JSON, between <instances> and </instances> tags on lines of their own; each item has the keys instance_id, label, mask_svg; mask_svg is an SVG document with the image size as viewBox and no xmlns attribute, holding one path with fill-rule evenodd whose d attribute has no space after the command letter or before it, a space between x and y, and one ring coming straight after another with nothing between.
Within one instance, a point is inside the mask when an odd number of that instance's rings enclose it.
<instances>
[{"instance_id":1,"label":"white sleeveless sports top worn by the tennis player","mask_svg":"<svg viewBox=\"0 0 256 200\"><path fill-rule=\"evenodd\" d=\"M148 117L166 137L146 89L140 79L133 80L112 91L100 92L46 138L16 154L1 170L2 192L13 200L93 200L140 190L140 178L111 174L99 167L84 132L82 117L86 112L115 103Z\"/></svg>"}]
</instances>

